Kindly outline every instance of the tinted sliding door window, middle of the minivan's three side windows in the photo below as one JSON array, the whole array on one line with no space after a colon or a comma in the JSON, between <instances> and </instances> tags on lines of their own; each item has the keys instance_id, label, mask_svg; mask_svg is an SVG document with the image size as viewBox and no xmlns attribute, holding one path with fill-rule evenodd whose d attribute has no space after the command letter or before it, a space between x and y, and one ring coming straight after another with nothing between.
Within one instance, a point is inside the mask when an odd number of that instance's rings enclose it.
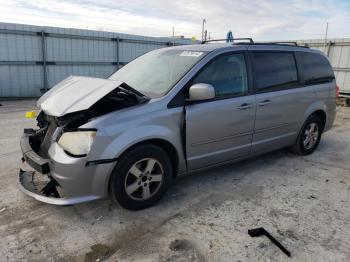
<instances>
[{"instance_id":1,"label":"tinted sliding door window, middle of the minivan's three side windows","mask_svg":"<svg viewBox=\"0 0 350 262\"><path fill-rule=\"evenodd\" d=\"M294 88L298 73L293 53L253 52L258 93Z\"/></svg>"}]
</instances>

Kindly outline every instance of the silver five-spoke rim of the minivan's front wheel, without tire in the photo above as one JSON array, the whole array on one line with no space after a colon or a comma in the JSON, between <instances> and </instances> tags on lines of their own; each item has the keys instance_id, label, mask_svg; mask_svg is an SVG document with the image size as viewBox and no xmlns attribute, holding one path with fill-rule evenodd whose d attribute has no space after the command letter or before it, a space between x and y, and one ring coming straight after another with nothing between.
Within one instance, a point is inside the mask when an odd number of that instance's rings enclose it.
<instances>
[{"instance_id":1,"label":"silver five-spoke rim of the minivan's front wheel, without tire","mask_svg":"<svg viewBox=\"0 0 350 262\"><path fill-rule=\"evenodd\" d=\"M125 192L134 200L147 200L158 192L163 177L161 163L154 158L142 159L129 169L125 177Z\"/></svg>"}]
</instances>

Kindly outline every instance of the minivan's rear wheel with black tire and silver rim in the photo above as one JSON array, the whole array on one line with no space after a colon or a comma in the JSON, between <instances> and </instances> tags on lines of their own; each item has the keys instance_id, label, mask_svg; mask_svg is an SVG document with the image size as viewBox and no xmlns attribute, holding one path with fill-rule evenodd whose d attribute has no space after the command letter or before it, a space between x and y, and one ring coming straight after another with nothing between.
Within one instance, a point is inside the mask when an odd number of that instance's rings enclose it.
<instances>
[{"instance_id":1,"label":"minivan's rear wheel with black tire and silver rim","mask_svg":"<svg viewBox=\"0 0 350 262\"><path fill-rule=\"evenodd\" d=\"M298 155L312 154L321 140L323 124L316 115L311 115L300 130L292 151Z\"/></svg>"}]
</instances>

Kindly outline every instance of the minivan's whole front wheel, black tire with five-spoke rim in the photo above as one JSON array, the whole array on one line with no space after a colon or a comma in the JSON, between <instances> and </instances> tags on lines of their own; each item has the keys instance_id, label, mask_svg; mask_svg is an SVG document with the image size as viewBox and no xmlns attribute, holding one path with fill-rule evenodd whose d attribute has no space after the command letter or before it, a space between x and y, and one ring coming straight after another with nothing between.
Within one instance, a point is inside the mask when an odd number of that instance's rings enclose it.
<instances>
[{"instance_id":1,"label":"minivan's whole front wheel, black tire with five-spoke rim","mask_svg":"<svg viewBox=\"0 0 350 262\"><path fill-rule=\"evenodd\" d=\"M122 155L113 170L110 191L113 200L129 210L154 205L172 179L172 162L160 147L144 144Z\"/></svg>"}]
</instances>

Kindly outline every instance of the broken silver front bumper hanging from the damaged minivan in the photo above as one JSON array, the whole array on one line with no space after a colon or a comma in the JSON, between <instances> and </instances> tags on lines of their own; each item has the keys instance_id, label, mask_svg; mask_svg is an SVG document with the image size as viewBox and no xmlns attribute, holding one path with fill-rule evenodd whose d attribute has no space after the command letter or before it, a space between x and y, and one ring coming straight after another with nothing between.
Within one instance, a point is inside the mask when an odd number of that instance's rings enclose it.
<instances>
[{"instance_id":1,"label":"broken silver front bumper hanging from the damaged minivan","mask_svg":"<svg viewBox=\"0 0 350 262\"><path fill-rule=\"evenodd\" d=\"M30 134L21 138L22 165L19 185L22 192L38 201L54 205L73 205L105 197L106 174L112 163L86 166L86 158L68 156L53 143L49 159L38 155L30 143Z\"/></svg>"}]
</instances>

